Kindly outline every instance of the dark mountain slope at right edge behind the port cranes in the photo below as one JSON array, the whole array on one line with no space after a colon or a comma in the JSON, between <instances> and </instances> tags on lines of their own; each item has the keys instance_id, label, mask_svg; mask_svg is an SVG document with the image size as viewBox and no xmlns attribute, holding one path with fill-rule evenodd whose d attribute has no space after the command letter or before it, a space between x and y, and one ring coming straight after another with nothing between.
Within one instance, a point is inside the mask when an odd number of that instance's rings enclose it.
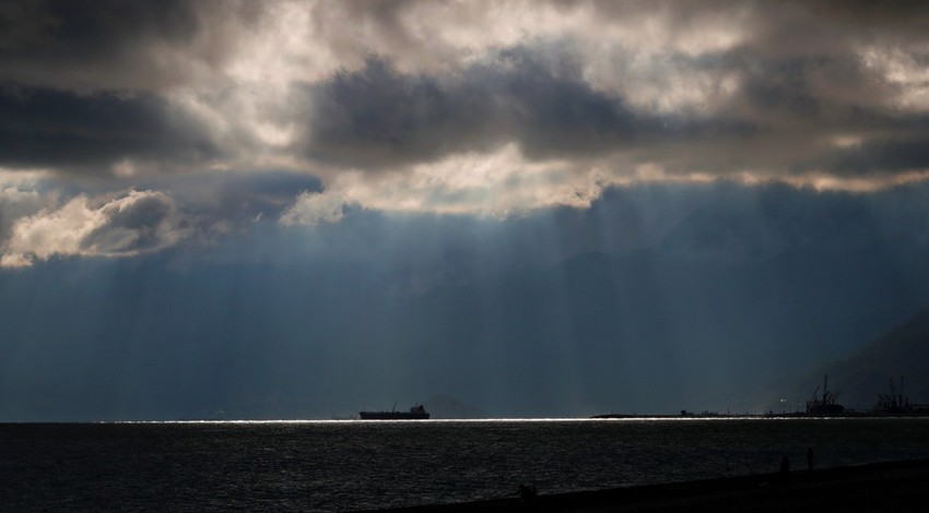
<instances>
[{"instance_id":1,"label":"dark mountain slope at right edge behind the port cranes","mask_svg":"<svg viewBox=\"0 0 929 513\"><path fill-rule=\"evenodd\" d=\"M839 403L856 409L870 409L878 394L890 393L890 380L899 387L904 377L904 395L910 404L929 403L929 308L891 330L873 344L845 359L827 363L811 372L790 393L792 401L805 401L828 374L830 390L839 391Z\"/></svg>"}]
</instances>

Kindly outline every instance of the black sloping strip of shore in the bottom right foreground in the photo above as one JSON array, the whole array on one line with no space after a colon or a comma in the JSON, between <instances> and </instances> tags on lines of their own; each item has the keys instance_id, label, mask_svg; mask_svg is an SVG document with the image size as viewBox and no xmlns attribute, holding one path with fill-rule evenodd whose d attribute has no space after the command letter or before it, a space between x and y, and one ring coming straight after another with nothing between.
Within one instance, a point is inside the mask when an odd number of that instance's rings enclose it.
<instances>
[{"instance_id":1,"label":"black sloping strip of shore in the bottom right foreground","mask_svg":"<svg viewBox=\"0 0 929 513\"><path fill-rule=\"evenodd\" d=\"M517 493L514 493L516 496ZM419 511L843 511L924 512L929 509L929 460L724 479L652 485L534 499L502 499L389 510Z\"/></svg>"}]
</instances>

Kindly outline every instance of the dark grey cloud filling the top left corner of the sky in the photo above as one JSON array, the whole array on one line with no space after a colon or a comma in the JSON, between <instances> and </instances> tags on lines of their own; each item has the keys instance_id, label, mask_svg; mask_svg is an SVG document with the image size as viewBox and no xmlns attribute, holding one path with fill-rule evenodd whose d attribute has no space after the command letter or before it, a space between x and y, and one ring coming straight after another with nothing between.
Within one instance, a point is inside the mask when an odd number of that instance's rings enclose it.
<instances>
[{"instance_id":1,"label":"dark grey cloud filling the top left corner of the sky","mask_svg":"<svg viewBox=\"0 0 929 513\"><path fill-rule=\"evenodd\" d=\"M232 26L260 20L258 2L37 0L0 2L0 81L58 88L154 90L215 65Z\"/></svg>"}]
</instances>

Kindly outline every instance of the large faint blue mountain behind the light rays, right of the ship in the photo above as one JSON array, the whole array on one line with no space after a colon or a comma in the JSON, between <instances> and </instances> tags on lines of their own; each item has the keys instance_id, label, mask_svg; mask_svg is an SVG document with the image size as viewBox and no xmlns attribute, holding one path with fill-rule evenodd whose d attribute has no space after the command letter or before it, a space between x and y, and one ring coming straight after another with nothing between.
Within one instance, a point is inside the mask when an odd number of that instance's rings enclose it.
<instances>
[{"instance_id":1,"label":"large faint blue mountain behind the light rays, right of the ship","mask_svg":"<svg viewBox=\"0 0 929 513\"><path fill-rule=\"evenodd\" d=\"M492 416L760 411L929 303L929 239L865 204L772 194L696 210L650 247L435 287L385 337L430 357L427 383L467 370L449 390Z\"/></svg>"}]
</instances>

